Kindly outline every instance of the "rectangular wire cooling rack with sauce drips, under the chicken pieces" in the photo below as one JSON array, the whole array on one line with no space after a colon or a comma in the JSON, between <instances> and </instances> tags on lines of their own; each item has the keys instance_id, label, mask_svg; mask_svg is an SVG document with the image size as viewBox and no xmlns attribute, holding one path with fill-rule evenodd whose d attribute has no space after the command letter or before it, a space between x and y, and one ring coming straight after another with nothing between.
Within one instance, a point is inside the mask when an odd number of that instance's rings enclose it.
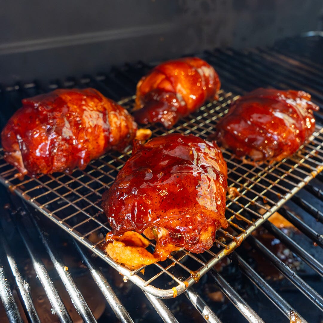
<instances>
[{"instance_id":1,"label":"rectangular wire cooling rack with sauce drips, under the chicken pieces","mask_svg":"<svg viewBox=\"0 0 323 323\"><path fill-rule=\"evenodd\" d=\"M222 91L218 101L206 104L181 120L172 130L166 131L158 126L150 129L153 136L179 132L207 139L214 132L217 120L228 111L228 104L238 97ZM131 97L119 103L131 109L133 100L134 97ZM323 129L317 126L307 145L293 156L272 164L243 164L234 159L229 151L223 150L228 165L226 217L230 226L217 231L213 247L205 251L203 257L182 250L163 262L146 266L144 270L142 267L131 271L114 262L99 248L105 234L110 231L100 207L101 196L113 183L131 151L103 155L91 161L84 171L75 169L68 174L55 173L21 180L16 169L3 159L1 149L0 181L115 267L125 281L129 279L157 297L171 298L197 282L322 171L322 141Z\"/></svg>"}]
</instances>

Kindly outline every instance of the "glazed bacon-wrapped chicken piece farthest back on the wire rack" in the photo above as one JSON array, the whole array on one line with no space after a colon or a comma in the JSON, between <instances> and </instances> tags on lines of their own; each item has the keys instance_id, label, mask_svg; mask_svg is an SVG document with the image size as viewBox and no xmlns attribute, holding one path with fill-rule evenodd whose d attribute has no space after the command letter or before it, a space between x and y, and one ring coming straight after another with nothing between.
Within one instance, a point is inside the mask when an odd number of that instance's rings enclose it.
<instances>
[{"instance_id":1,"label":"glazed bacon-wrapped chicken piece farthest back on the wire rack","mask_svg":"<svg viewBox=\"0 0 323 323\"><path fill-rule=\"evenodd\" d=\"M171 128L180 118L212 100L220 89L214 68L198 57L164 62L137 84L135 120Z\"/></svg>"}]
</instances>

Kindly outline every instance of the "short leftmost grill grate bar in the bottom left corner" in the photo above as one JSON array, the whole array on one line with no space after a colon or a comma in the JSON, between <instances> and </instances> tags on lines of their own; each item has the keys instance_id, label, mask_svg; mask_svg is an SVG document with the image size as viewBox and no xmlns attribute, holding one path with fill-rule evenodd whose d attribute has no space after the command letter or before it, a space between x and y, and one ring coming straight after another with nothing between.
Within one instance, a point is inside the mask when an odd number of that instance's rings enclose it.
<instances>
[{"instance_id":1,"label":"short leftmost grill grate bar in the bottom left corner","mask_svg":"<svg viewBox=\"0 0 323 323\"><path fill-rule=\"evenodd\" d=\"M23 323L3 266L0 266L0 299L10 323Z\"/></svg>"}]
</instances>

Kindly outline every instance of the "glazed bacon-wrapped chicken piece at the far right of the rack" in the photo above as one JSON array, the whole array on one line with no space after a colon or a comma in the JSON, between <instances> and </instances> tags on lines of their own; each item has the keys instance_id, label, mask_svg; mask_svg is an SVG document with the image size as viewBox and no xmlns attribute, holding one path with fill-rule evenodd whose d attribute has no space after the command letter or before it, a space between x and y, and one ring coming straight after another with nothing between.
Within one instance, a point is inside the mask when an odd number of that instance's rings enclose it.
<instances>
[{"instance_id":1,"label":"glazed bacon-wrapped chicken piece at the far right of the rack","mask_svg":"<svg viewBox=\"0 0 323 323\"><path fill-rule=\"evenodd\" d=\"M231 105L211 138L237 157L280 161L314 132L318 106L310 99L303 91L256 89Z\"/></svg>"}]
</instances>

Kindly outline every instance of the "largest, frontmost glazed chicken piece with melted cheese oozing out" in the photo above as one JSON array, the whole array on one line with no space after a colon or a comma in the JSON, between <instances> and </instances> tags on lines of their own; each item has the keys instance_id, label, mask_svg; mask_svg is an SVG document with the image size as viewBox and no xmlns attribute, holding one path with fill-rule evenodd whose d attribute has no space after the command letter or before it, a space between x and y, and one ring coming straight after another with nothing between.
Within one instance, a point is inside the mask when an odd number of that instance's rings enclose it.
<instances>
[{"instance_id":1,"label":"largest, frontmost glazed chicken piece with melted cheese oozing out","mask_svg":"<svg viewBox=\"0 0 323 323\"><path fill-rule=\"evenodd\" d=\"M227 166L215 143L169 134L137 144L103 195L102 208L114 234L107 241L119 236L125 243L125 232L143 233L156 240L155 261L179 248L201 253L213 245L215 231L228 225L226 191ZM106 251L116 259L113 251ZM140 257L141 264L153 260ZM117 261L133 267L127 259Z\"/></svg>"}]
</instances>

